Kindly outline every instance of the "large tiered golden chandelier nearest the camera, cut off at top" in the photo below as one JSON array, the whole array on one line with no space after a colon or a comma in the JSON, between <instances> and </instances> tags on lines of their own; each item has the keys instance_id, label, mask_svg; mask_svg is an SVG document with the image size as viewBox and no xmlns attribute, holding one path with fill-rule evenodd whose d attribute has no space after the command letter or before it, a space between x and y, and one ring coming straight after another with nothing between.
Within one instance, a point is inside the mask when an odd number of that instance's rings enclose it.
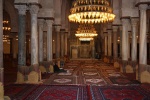
<instances>
[{"instance_id":1,"label":"large tiered golden chandelier nearest the camera, cut off at top","mask_svg":"<svg viewBox=\"0 0 150 100\"><path fill-rule=\"evenodd\" d=\"M76 0L70 9L70 22L105 23L112 22L115 15L107 0Z\"/></svg>"}]
</instances>

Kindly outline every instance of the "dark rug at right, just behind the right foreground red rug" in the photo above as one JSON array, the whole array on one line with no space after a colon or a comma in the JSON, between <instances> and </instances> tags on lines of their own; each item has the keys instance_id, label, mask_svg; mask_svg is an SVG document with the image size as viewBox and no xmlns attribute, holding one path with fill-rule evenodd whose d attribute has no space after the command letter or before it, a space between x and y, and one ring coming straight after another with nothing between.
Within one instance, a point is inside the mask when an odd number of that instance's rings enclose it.
<instances>
[{"instance_id":1,"label":"dark rug at right, just behind the right foreground red rug","mask_svg":"<svg viewBox=\"0 0 150 100\"><path fill-rule=\"evenodd\" d=\"M129 80L126 77L108 77L108 79L112 82L112 84L116 85L133 85L133 84L139 84L139 82L134 80Z\"/></svg>"}]
</instances>

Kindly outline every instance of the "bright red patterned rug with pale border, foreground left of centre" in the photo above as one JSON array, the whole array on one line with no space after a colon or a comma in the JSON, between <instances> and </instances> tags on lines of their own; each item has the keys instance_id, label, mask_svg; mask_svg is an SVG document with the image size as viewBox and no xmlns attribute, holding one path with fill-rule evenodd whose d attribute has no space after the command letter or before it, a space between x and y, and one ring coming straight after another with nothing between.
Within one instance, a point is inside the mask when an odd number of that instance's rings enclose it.
<instances>
[{"instance_id":1,"label":"bright red patterned rug with pale border, foreground left of centre","mask_svg":"<svg viewBox=\"0 0 150 100\"><path fill-rule=\"evenodd\" d=\"M88 100L86 86L41 85L23 100Z\"/></svg>"}]
</instances>

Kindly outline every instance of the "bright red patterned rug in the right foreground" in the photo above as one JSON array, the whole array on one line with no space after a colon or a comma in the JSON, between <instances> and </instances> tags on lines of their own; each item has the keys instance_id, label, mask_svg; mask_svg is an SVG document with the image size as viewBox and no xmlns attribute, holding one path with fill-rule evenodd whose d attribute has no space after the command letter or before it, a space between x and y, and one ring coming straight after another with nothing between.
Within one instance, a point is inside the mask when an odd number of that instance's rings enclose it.
<instances>
[{"instance_id":1,"label":"bright red patterned rug in the right foreground","mask_svg":"<svg viewBox=\"0 0 150 100\"><path fill-rule=\"evenodd\" d=\"M150 100L139 86L91 86L92 100Z\"/></svg>"}]
</instances>

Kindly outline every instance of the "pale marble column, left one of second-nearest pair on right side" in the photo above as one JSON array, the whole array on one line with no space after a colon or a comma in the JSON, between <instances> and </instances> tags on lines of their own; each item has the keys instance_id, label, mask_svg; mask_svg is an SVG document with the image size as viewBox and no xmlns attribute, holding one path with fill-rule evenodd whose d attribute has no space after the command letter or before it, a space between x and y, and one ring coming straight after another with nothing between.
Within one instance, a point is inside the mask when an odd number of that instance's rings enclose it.
<instances>
[{"instance_id":1,"label":"pale marble column, left one of second-nearest pair on right side","mask_svg":"<svg viewBox=\"0 0 150 100\"><path fill-rule=\"evenodd\" d=\"M128 61L128 19L122 19L122 60Z\"/></svg>"}]
</instances>

